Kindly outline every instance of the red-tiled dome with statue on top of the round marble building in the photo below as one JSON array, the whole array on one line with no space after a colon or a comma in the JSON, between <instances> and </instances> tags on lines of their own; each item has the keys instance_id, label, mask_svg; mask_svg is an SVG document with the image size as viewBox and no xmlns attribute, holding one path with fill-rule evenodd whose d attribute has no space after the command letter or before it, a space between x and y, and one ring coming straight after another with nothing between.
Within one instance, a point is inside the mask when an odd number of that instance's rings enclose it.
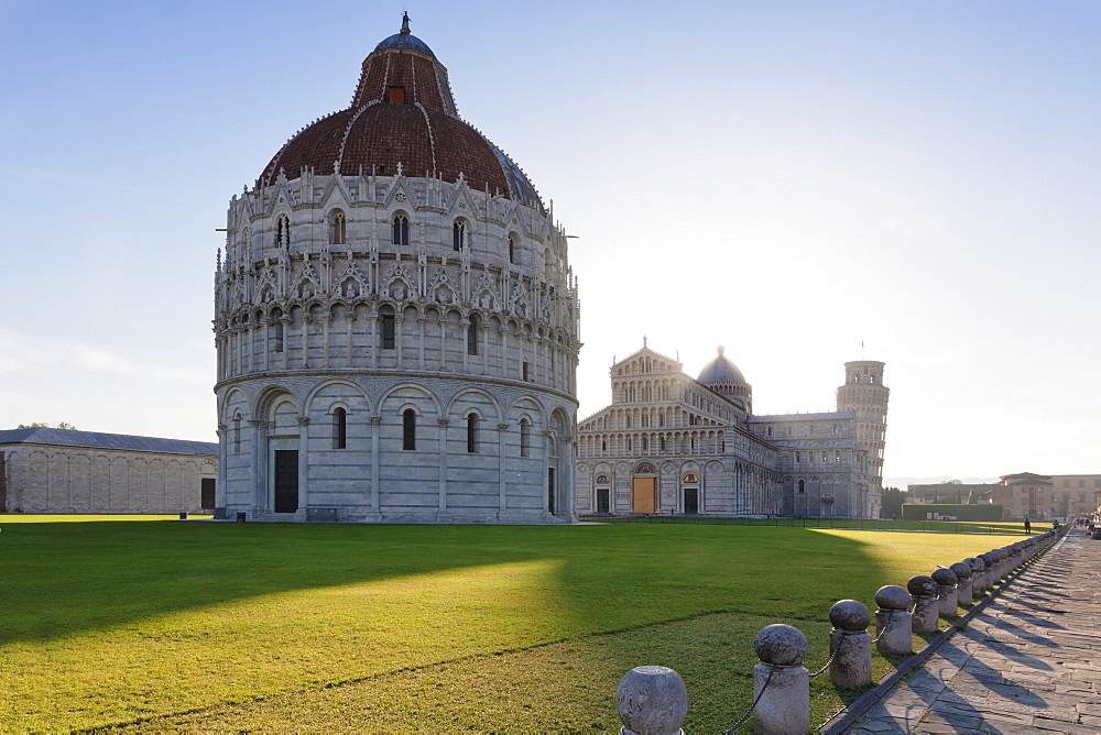
<instances>
[{"instance_id":1,"label":"red-tiled dome with statue on top of the round marble building","mask_svg":"<svg viewBox=\"0 0 1101 735\"><path fill-rule=\"evenodd\" d=\"M512 158L461 118L447 69L410 32L383 40L363 61L351 106L294 135L260 174L271 185L303 169L331 175L433 176L501 195L544 211L527 176Z\"/></svg>"}]
</instances>

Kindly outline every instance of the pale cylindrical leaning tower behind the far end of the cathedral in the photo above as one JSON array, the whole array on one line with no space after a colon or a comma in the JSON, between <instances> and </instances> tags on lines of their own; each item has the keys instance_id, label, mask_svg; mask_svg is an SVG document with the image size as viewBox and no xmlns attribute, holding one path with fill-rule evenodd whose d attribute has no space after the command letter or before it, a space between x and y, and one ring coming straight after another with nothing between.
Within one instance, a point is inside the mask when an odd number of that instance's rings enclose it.
<instances>
[{"instance_id":1,"label":"pale cylindrical leaning tower behind the far end of the cathedral","mask_svg":"<svg viewBox=\"0 0 1101 735\"><path fill-rule=\"evenodd\" d=\"M844 363L844 385L837 390L837 409L857 417L857 441L868 448L869 515L880 516L883 495L883 448L886 445L887 398L883 363L855 360Z\"/></svg>"}]
</instances>

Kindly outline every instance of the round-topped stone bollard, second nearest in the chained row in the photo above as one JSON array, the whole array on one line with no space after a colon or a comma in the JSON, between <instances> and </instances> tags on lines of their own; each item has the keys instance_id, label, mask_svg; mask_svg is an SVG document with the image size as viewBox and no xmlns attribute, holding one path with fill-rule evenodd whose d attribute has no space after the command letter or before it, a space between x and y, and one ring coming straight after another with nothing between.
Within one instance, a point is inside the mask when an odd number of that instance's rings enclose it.
<instances>
[{"instance_id":1,"label":"round-topped stone bollard, second nearest in the chained row","mask_svg":"<svg viewBox=\"0 0 1101 735\"><path fill-rule=\"evenodd\" d=\"M753 698L757 702L753 732L809 733L810 674L803 667L807 637L791 625L768 625L757 634L753 647L761 659L753 667Z\"/></svg>"}]
</instances>

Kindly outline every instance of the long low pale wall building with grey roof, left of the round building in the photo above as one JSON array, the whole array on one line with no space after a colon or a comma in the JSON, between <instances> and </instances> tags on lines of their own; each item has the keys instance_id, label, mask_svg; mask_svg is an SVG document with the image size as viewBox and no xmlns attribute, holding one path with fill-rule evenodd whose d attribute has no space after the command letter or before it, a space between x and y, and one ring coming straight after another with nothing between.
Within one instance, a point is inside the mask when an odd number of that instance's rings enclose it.
<instances>
[{"instance_id":1,"label":"long low pale wall building with grey roof, left of the round building","mask_svg":"<svg viewBox=\"0 0 1101 735\"><path fill-rule=\"evenodd\" d=\"M68 429L0 431L0 513L212 511L218 445Z\"/></svg>"}]
</instances>

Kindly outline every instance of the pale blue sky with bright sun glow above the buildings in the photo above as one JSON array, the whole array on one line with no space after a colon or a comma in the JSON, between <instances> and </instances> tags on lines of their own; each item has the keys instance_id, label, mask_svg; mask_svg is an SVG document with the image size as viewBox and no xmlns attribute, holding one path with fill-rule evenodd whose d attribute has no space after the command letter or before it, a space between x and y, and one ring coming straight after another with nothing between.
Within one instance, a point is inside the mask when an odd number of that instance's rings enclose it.
<instances>
[{"instance_id":1,"label":"pale blue sky with bright sun glow above the buildings","mask_svg":"<svg viewBox=\"0 0 1101 735\"><path fill-rule=\"evenodd\" d=\"M0 0L0 428L215 439L215 228L403 9L578 238L582 416L643 336L757 413L863 356L887 478L1101 472L1097 0Z\"/></svg>"}]
</instances>

